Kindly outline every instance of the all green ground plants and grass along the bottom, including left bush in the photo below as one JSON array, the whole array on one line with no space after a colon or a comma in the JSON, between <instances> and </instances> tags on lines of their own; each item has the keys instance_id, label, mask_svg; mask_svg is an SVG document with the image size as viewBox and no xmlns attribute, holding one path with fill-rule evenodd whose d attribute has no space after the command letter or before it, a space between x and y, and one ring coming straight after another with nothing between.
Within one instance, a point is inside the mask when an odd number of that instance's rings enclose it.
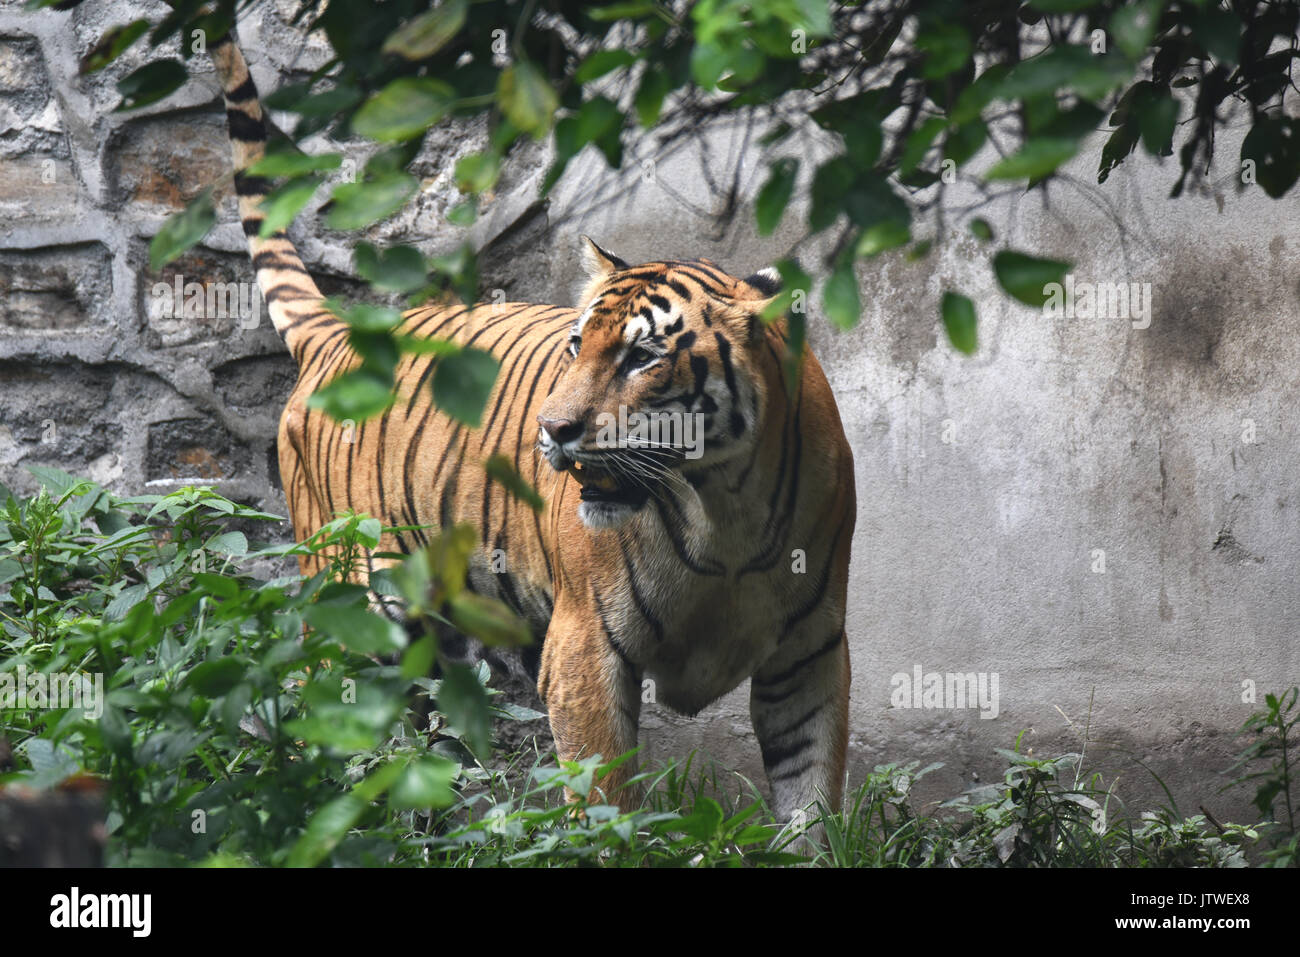
<instances>
[{"instance_id":1,"label":"all green ground plants and grass along the bottom, including left bush","mask_svg":"<svg viewBox=\"0 0 1300 957\"><path fill-rule=\"evenodd\" d=\"M17 761L0 788L101 789L110 863L1242 866L1261 832L1266 863L1297 863L1296 689L1268 696L1244 728L1254 740L1236 783L1257 781L1258 827L1173 806L1134 820L1100 775L1084 778L1082 755L1018 748L1001 752L1001 781L939 813L913 805L939 765L880 766L845 811L811 809L824 841L783 827L750 781L693 755L636 775L628 787L647 798L634 811L569 804L566 788L586 794L633 755L555 766L493 750L491 722L542 715L502 701L486 664L441 657L439 628L526 637L464 592L468 528L377 573L372 594L346 580L363 555L385 554L374 519L256 546L237 525L274 516L209 489L117 498L32 471L36 495L0 490L0 690L39 674L86 693L99 675L104 696L0 710ZM254 573L300 553L322 571ZM385 614L396 611L406 627Z\"/></svg>"}]
</instances>

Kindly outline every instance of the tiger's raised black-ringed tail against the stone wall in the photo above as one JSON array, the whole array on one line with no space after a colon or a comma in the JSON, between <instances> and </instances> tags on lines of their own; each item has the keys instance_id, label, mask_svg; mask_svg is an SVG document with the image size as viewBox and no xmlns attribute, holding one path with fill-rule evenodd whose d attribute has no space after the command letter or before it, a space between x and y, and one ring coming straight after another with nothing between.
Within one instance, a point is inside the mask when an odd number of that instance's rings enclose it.
<instances>
[{"instance_id":1,"label":"tiger's raised black-ringed tail against the stone wall","mask_svg":"<svg viewBox=\"0 0 1300 957\"><path fill-rule=\"evenodd\" d=\"M244 170L266 152L266 125L263 122L257 87L248 73L248 64L230 34L209 46L212 61L221 79L226 100L226 124L230 127L230 152L234 159L235 194L239 196L239 221L248 237L248 252L257 270L257 286L266 303L266 312L276 332L302 364L302 351L315 326L333 325L338 319L321 307L321 291L312 282L307 267L289 235L280 230L263 239L257 235L263 212L259 203L269 182ZM320 321L313 321L320 320Z\"/></svg>"}]
</instances>

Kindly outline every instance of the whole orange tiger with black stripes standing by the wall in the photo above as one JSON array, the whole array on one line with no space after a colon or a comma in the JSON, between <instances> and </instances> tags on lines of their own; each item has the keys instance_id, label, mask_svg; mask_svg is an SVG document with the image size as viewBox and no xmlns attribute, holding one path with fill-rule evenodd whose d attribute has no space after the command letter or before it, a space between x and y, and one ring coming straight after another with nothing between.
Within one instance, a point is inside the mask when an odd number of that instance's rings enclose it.
<instances>
[{"instance_id":1,"label":"whole orange tiger with black stripes standing by the wall","mask_svg":"<svg viewBox=\"0 0 1300 957\"><path fill-rule=\"evenodd\" d=\"M633 752L645 689L696 715L749 680L774 813L792 820L819 800L838 806L853 455L816 359L793 351L784 319L762 316L779 273L742 280L708 259L630 265L584 237L576 307L434 303L403 313L400 333L499 360L481 428L434 406L436 356L406 355L403 399L346 434L308 399L359 363L348 325L322 306L287 233L259 235L269 183L247 170L265 153L263 108L234 39L209 49L252 265L298 365L277 434L295 538L343 510L398 528L472 523L481 541L469 586L538 636L537 690L560 761ZM792 358L797 377L785 374ZM676 413L681 434L602 434L634 413ZM491 455L532 482L541 512L488 481ZM385 532L374 553L429 541L420 528ZM494 553L508 555L503 572ZM302 572L320 560L302 557ZM376 567L370 558L360 575ZM592 797L634 810L636 768L607 770Z\"/></svg>"}]
</instances>

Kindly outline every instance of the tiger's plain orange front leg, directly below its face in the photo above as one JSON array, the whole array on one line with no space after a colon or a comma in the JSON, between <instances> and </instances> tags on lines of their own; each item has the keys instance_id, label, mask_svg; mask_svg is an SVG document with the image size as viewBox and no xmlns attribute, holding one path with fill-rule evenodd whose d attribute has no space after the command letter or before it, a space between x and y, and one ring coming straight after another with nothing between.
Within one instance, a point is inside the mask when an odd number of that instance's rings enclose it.
<instances>
[{"instance_id":1,"label":"tiger's plain orange front leg, directly below its face","mask_svg":"<svg viewBox=\"0 0 1300 957\"><path fill-rule=\"evenodd\" d=\"M593 754L612 761L637 746L641 711L637 668L606 632L599 616L569 615L556 607L542 646L537 690L546 703L560 761ZM590 800L618 804L623 811L636 810L642 796L638 788L628 787L634 775L636 762L624 762L594 781Z\"/></svg>"}]
</instances>

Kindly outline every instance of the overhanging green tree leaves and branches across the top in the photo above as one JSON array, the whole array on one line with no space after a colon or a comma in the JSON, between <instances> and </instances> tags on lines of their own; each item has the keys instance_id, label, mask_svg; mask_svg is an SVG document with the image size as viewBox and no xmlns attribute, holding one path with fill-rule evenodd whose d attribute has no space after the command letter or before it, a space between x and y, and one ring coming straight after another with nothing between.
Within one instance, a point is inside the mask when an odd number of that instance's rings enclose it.
<instances>
[{"instance_id":1,"label":"overhanging green tree leaves and branches across the top","mask_svg":"<svg viewBox=\"0 0 1300 957\"><path fill-rule=\"evenodd\" d=\"M116 26L84 57L83 70L103 69L147 35L159 53L120 82L122 109L178 88L199 51L195 31L216 35L243 5L169 1L160 23ZM399 209L417 186L408 164L451 117L485 116L491 130L486 150L458 163L465 200L448 216L458 225L473 221L480 196L529 138L554 137L549 191L588 147L619 168L638 131L668 144L708 122L757 118L770 156L758 229L775 230L806 196L800 243L826 234L822 300L840 326L858 320L857 260L909 243L907 255L930 255L948 220L998 190L1045 190L1063 178L1062 164L1098 130L1109 131L1096 160L1101 183L1140 144L1154 157L1176 155L1171 195L1180 195L1209 173L1217 131L1243 112L1249 130L1230 163L1238 189L1258 185L1278 198L1300 177L1297 121L1284 109L1300 0L494 0L474 3L472 16L467 0L300 0L295 20L322 30L334 56L269 98L296 114L291 139L325 130L378 144L356 182L332 187L330 228L361 229ZM836 146L826 155L810 148L827 140ZM260 170L283 179L268 200L277 225L325 186L300 160L285 144ZM957 182L978 191L974 204L945 199ZM211 226L211 196L195 207L160 233L155 268ZM434 289L476 298L471 248L441 260L389 252L400 268L367 270L359 248L359 270L380 285L374 273L400 273L412 300ZM1032 251L991 254L994 277L1022 302L1034 296L1015 277L1041 290L1036 273L1057 270ZM1008 256L1018 269L998 265ZM945 293L945 329L970 352L974 308ZM802 312L790 321L802 325Z\"/></svg>"}]
</instances>

